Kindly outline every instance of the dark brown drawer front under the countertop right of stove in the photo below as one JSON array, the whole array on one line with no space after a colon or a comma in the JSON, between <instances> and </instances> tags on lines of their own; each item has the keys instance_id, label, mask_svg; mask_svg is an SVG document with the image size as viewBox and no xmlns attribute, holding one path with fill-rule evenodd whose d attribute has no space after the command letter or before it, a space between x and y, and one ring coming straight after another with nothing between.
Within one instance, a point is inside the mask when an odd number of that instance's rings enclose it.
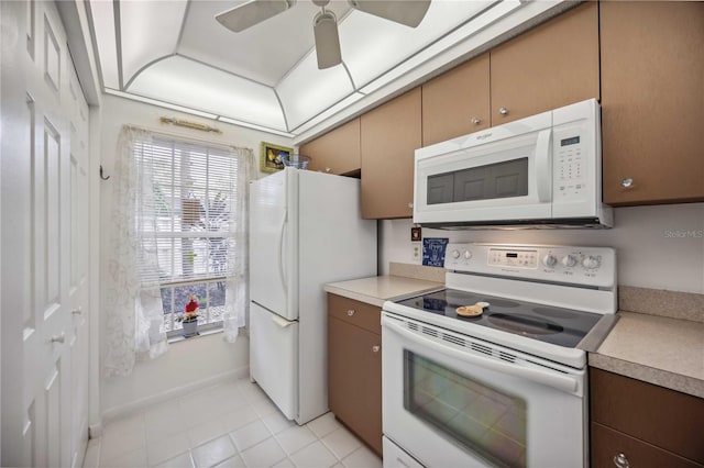
<instances>
[{"instance_id":1,"label":"dark brown drawer front under the countertop right of stove","mask_svg":"<svg viewBox=\"0 0 704 468\"><path fill-rule=\"evenodd\" d=\"M593 422L704 464L704 399L601 369L590 377Z\"/></svg>"}]
</instances>

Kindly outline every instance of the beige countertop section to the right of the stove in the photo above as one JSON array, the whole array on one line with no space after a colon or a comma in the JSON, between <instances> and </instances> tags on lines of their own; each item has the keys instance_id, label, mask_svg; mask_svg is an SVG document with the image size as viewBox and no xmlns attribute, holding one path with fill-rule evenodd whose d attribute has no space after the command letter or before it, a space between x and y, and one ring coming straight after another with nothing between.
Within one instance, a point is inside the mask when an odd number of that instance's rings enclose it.
<instances>
[{"instance_id":1,"label":"beige countertop section to the right of the stove","mask_svg":"<svg viewBox=\"0 0 704 468\"><path fill-rule=\"evenodd\" d=\"M704 398L704 323L619 314L590 366Z\"/></svg>"}]
</instances>

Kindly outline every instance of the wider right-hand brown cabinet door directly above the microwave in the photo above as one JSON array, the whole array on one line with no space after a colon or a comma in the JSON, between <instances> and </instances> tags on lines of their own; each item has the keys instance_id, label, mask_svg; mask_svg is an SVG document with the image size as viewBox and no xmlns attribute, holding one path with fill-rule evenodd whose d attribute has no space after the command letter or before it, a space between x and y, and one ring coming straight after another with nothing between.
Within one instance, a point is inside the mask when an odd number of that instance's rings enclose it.
<instances>
[{"instance_id":1,"label":"wider right-hand brown cabinet door directly above the microwave","mask_svg":"<svg viewBox=\"0 0 704 468\"><path fill-rule=\"evenodd\" d=\"M491 74L492 125L598 99L597 2L576 7L491 51Z\"/></svg>"}]
</instances>

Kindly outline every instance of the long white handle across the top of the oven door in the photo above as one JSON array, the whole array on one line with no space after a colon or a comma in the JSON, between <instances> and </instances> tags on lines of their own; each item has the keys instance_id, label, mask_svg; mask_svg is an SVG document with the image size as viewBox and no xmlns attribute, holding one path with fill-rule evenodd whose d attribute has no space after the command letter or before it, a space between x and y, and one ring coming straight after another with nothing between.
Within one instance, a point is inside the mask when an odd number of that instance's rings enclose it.
<instances>
[{"instance_id":1,"label":"long white handle across the top of the oven door","mask_svg":"<svg viewBox=\"0 0 704 468\"><path fill-rule=\"evenodd\" d=\"M462 361L483 367L485 369L491 369L497 372L529 379L535 382L542 383L544 386L550 386L565 392L573 393L576 391L578 382L574 379L571 379L569 377L560 376L546 370L531 369L531 368L514 366L510 364L504 364L503 361L497 361L497 360L488 359L485 357L474 356L470 353L463 353L461 350L454 349L451 346L443 346L439 343L436 343L433 339L430 339L420 334L410 332L405 327L396 323L393 323L386 317L382 317L382 326L387 327L389 331L411 342L421 344L422 346L427 346L428 348L435 350L436 353L440 353L446 356L450 356L455 359L460 359Z\"/></svg>"}]
</instances>

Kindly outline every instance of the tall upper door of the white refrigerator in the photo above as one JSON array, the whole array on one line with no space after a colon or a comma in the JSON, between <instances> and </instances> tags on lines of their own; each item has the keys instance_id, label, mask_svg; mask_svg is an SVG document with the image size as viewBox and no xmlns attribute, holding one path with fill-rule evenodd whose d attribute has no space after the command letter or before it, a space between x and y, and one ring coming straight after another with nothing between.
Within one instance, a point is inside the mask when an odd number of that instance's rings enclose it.
<instances>
[{"instance_id":1,"label":"tall upper door of the white refrigerator","mask_svg":"<svg viewBox=\"0 0 704 468\"><path fill-rule=\"evenodd\" d=\"M298 319L295 172L250 185L250 300L287 320Z\"/></svg>"}]
</instances>

